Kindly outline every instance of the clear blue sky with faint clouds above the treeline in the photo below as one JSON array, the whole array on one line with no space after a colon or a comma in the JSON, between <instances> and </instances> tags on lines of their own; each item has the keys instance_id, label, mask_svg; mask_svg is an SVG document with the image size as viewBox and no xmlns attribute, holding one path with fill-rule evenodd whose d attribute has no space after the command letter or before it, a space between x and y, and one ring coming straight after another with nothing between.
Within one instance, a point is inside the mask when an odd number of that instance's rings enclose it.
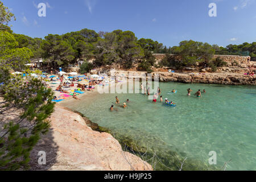
<instances>
[{"instance_id":1,"label":"clear blue sky with faint clouds above the treeline","mask_svg":"<svg viewBox=\"0 0 256 182\"><path fill-rule=\"evenodd\" d=\"M17 34L44 38L88 28L130 30L138 39L150 38L165 46L196 40L227 46L256 42L256 0L1 0L16 16ZM46 3L46 17L36 6ZM209 3L217 17L210 17Z\"/></svg>"}]
</instances>

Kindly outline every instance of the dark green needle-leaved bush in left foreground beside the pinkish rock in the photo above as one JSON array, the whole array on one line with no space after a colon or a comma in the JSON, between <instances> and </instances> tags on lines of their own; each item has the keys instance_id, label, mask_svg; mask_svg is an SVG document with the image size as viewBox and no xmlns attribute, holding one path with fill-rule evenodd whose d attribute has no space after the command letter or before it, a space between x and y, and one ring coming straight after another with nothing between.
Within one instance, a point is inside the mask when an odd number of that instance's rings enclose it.
<instances>
[{"instance_id":1,"label":"dark green needle-leaved bush in left foreground beside the pinkish rock","mask_svg":"<svg viewBox=\"0 0 256 182\"><path fill-rule=\"evenodd\" d=\"M50 126L47 118L53 112L53 92L37 78L27 77L26 82L21 77L9 78L0 88L0 111L21 114L1 129L0 170L27 169L30 151Z\"/></svg>"}]
</instances>

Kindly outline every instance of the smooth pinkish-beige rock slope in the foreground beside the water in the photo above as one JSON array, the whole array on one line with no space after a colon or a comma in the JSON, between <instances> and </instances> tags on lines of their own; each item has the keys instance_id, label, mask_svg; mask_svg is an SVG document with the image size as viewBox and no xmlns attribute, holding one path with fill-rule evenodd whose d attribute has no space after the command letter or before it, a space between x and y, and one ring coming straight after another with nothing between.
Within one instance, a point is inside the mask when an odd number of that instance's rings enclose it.
<instances>
[{"instance_id":1,"label":"smooth pinkish-beige rock slope in the foreground beside the water","mask_svg":"<svg viewBox=\"0 0 256 182\"><path fill-rule=\"evenodd\" d=\"M81 115L55 105L51 129L31 152L32 170L152 170L138 156L122 151L112 135L93 131ZM38 152L46 152L46 165Z\"/></svg>"}]
</instances>

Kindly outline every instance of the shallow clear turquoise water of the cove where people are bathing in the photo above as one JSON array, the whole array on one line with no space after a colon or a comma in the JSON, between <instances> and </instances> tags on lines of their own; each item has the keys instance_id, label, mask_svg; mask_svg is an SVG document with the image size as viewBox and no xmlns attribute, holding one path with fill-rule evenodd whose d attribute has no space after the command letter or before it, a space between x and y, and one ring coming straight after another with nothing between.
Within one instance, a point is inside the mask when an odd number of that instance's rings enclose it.
<instances>
[{"instance_id":1,"label":"shallow clear turquoise water of the cove where people are bathing","mask_svg":"<svg viewBox=\"0 0 256 182\"><path fill-rule=\"evenodd\" d=\"M216 151L217 165L228 170L256 170L256 87L159 83L161 95L176 107L152 103L143 94L100 94L95 100L68 105L100 126L108 127L144 146L170 149L190 159L208 163ZM201 98L187 96L205 89ZM176 89L176 94L169 94ZM120 105L129 98L128 108ZM110 112L114 105L118 111Z\"/></svg>"}]
</instances>

